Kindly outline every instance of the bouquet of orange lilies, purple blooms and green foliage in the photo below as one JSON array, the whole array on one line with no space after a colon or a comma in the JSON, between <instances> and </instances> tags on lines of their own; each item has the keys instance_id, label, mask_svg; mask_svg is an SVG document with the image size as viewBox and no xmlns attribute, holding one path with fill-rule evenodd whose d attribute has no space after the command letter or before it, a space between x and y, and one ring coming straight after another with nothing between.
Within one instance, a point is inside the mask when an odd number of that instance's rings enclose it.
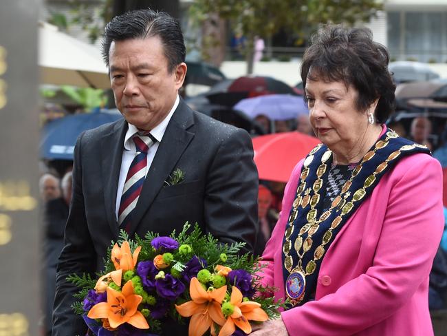
<instances>
[{"instance_id":1,"label":"bouquet of orange lilies, purple blooms and green foliage","mask_svg":"<svg viewBox=\"0 0 447 336\"><path fill-rule=\"evenodd\" d=\"M81 288L73 308L98 336L155 335L168 316L190 317L191 336L249 334L249 321L278 317L285 303L259 284L259 260L238 254L244 244L221 244L188 222L170 237L129 240L121 231L98 280L67 278Z\"/></svg>"}]
</instances>

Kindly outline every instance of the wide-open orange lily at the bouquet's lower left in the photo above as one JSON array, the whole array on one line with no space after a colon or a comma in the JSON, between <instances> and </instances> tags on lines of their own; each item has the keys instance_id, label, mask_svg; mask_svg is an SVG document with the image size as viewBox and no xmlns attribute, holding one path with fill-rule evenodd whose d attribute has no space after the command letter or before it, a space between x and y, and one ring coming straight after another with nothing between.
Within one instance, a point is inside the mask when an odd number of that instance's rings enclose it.
<instances>
[{"instance_id":1,"label":"wide-open orange lily at the bouquet's lower left","mask_svg":"<svg viewBox=\"0 0 447 336\"><path fill-rule=\"evenodd\" d=\"M91 307L87 316L91 319L105 319L104 327L118 328L121 324L129 323L135 328L149 329L146 319L137 310L142 302L140 295L133 293L133 284L126 282L122 292L107 287L107 302L100 302Z\"/></svg>"}]
</instances>

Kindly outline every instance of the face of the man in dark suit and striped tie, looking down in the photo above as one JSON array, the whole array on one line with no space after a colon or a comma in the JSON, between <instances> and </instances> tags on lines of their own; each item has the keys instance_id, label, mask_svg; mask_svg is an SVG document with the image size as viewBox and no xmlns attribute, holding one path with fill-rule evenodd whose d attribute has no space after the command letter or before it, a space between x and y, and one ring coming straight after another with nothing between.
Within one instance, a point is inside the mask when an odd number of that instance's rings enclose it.
<instances>
[{"instance_id":1,"label":"face of the man in dark suit and striped tie, looking down","mask_svg":"<svg viewBox=\"0 0 447 336\"><path fill-rule=\"evenodd\" d=\"M186 64L169 72L158 36L111 43L109 64L116 106L127 122L150 131L173 107Z\"/></svg>"}]
</instances>

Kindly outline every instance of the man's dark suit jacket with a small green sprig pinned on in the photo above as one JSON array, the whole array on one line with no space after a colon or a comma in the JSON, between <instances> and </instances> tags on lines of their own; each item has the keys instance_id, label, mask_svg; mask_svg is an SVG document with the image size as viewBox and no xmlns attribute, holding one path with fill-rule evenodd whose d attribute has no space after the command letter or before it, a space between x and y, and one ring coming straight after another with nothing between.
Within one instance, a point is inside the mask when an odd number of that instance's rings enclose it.
<instances>
[{"instance_id":1,"label":"man's dark suit jacket with a small green sprig pinned on","mask_svg":"<svg viewBox=\"0 0 447 336\"><path fill-rule=\"evenodd\" d=\"M58 264L54 336L85 335L83 320L70 308L77 288L65 278L103 271L107 248L118 240L115 204L126 131L125 120L118 120L78 138L72 204ZM184 171L184 181L167 186L164 181L177 168ZM180 100L144 181L130 236L144 237L147 231L169 235L189 221L221 242L246 242L247 251L252 251L257 191L248 133L193 112ZM163 325L164 335L187 335L187 328Z\"/></svg>"}]
</instances>

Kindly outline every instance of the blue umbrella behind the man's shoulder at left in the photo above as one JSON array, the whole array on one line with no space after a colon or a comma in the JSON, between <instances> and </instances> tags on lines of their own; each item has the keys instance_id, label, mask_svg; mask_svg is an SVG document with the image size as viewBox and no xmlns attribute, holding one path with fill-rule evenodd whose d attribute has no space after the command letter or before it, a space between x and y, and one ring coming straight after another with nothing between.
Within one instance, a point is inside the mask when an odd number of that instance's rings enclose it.
<instances>
[{"instance_id":1,"label":"blue umbrella behind the man's shoulder at left","mask_svg":"<svg viewBox=\"0 0 447 336\"><path fill-rule=\"evenodd\" d=\"M87 129L96 128L121 118L114 109L111 112L72 114L53 120L43 127L41 157L50 160L73 160L74 145L78 136Z\"/></svg>"}]
</instances>

